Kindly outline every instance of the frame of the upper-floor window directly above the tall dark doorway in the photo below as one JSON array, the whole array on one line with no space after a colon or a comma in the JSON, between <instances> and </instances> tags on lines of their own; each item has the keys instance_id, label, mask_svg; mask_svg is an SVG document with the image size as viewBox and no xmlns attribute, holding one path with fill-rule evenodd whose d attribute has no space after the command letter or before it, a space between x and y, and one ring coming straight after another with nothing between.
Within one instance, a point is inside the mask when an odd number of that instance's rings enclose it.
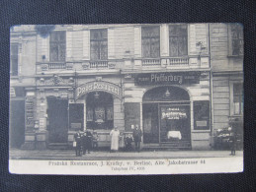
<instances>
[{"instance_id":1,"label":"frame of the upper-floor window directly above the tall dark doorway","mask_svg":"<svg viewBox=\"0 0 256 192\"><path fill-rule=\"evenodd\" d=\"M51 35L53 35L53 33L59 33L58 35L61 35L60 32L64 33L64 37L63 39L57 39L57 40L52 40L51 39ZM59 37L59 36L58 36ZM57 46L57 59L52 58L52 44L54 44ZM61 59L60 56L60 52L61 52L61 46L63 46L63 50L62 53L64 53L64 58ZM54 32L50 32L49 34L49 62L65 62L66 61L66 32L65 31L54 31Z\"/></svg>"}]
</instances>

